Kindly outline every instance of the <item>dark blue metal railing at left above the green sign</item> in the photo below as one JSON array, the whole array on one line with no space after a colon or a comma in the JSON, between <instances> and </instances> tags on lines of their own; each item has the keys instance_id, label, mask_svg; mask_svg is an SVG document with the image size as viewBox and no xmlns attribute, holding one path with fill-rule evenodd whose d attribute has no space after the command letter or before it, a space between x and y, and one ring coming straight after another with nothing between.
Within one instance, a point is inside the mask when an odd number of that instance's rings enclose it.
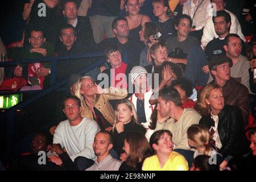
<instances>
[{"instance_id":1,"label":"dark blue metal railing at left above the green sign","mask_svg":"<svg viewBox=\"0 0 256 182\"><path fill-rule=\"evenodd\" d=\"M47 88L47 89L36 91L36 92L38 92L38 94L36 94L36 96L31 97L27 101L20 102L19 104L11 107L10 109L7 109L5 111L5 113L2 113L0 115L0 121L3 118L7 118L7 136L6 136L6 138L7 138L7 146L6 146L7 162L9 162L9 159L10 159L11 148L13 148L15 111L32 104L36 100L39 100L39 98L42 98L42 97L46 96L47 94L53 92L54 90L60 88L61 86L67 84L68 78L65 78L64 80L56 83L57 62L61 61L61 60L75 60L75 59L83 59L83 58L89 58L89 57L100 57L100 56L103 56L103 54L102 53L86 53L86 54L82 54L82 55L72 55L72 56L45 57L45 58L36 59L36 60L35 59L26 59L26 60L19 60L19 61L15 60L15 61L0 62L0 67L10 67L10 66L14 66L16 64L51 62L51 82L50 82L51 86L49 86L49 88ZM104 63L105 63L105 59L101 58L101 59L95 61L93 64L86 66L79 73L84 74L86 72L89 72L92 69L94 69ZM22 93L22 92L17 92L17 93Z\"/></svg>"}]
</instances>

